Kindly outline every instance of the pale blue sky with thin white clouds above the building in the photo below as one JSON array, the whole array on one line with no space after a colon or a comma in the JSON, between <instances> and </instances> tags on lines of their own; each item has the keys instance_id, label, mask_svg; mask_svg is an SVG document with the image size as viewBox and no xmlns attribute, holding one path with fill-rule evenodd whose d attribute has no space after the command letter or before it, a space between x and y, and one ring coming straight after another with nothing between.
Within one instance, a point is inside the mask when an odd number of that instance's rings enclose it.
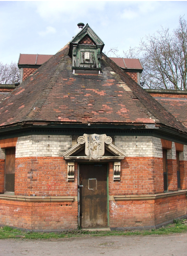
<instances>
[{"instance_id":1,"label":"pale blue sky with thin white clouds above the building","mask_svg":"<svg viewBox=\"0 0 187 256\"><path fill-rule=\"evenodd\" d=\"M0 1L0 62L56 54L80 22L101 38L105 53L117 48L123 57L146 35L177 28L180 16L187 20L187 1Z\"/></svg>"}]
</instances>

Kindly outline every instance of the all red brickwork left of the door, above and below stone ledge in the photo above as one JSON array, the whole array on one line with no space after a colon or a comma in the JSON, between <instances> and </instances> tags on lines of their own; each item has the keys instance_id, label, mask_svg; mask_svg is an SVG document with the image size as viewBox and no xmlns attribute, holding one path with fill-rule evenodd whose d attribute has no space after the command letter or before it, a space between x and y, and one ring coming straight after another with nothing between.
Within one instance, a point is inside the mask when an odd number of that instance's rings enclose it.
<instances>
[{"instance_id":1,"label":"all red brickwork left of the door, above and below stone ledge","mask_svg":"<svg viewBox=\"0 0 187 256\"><path fill-rule=\"evenodd\" d=\"M62 157L16 158L15 195L77 196L75 182L67 182ZM4 160L0 160L0 188L4 186ZM77 228L77 202L20 202L0 200L0 223L31 230Z\"/></svg>"}]
</instances>

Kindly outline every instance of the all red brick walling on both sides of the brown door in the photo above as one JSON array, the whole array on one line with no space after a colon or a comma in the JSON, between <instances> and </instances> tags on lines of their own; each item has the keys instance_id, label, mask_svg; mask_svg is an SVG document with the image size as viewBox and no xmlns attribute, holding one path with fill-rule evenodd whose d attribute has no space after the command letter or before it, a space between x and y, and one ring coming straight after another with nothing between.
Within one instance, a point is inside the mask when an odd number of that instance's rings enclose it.
<instances>
[{"instance_id":1,"label":"all red brick walling on both sides of the brown door","mask_svg":"<svg viewBox=\"0 0 187 256\"><path fill-rule=\"evenodd\" d=\"M168 160L169 186L177 186L176 160ZM180 161L181 187L187 188L187 162ZM173 173L173 178L172 178ZM4 185L4 160L0 160L0 188ZM109 196L163 193L161 158L127 157L121 162L121 179L113 181L113 163L109 163ZM168 182L169 183L169 182ZM63 157L16 158L15 195L76 196L75 181L67 181L67 163ZM109 202L110 227L154 226L187 214L186 195L156 200ZM20 202L0 200L0 223L31 230L77 228L77 202Z\"/></svg>"}]
</instances>

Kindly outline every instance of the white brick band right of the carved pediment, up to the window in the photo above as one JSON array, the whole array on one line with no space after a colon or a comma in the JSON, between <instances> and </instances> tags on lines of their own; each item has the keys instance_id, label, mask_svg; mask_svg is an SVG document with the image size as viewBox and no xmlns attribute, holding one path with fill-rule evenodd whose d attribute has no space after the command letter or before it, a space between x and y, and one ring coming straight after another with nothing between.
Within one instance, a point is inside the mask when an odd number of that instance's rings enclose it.
<instances>
[{"instance_id":1,"label":"white brick band right of the carved pediment, up to the window","mask_svg":"<svg viewBox=\"0 0 187 256\"><path fill-rule=\"evenodd\" d=\"M127 157L161 157L161 139L151 136L115 136L115 145Z\"/></svg>"}]
</instances>

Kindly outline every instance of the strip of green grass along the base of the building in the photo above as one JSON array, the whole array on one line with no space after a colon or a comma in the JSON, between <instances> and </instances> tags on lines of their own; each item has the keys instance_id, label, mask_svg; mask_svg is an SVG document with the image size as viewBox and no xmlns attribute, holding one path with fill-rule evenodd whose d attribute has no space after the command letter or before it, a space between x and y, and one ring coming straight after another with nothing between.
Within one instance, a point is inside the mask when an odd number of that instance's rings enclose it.
<instances>
[{"instance_id":1,"label":"strip of green grass along the base of the building","mask_svg":"<svg viewBox=\"0 0 187 256\"><path fill-rule=\"evenodd\" d=\"M82 230L69 229L62 232L45 233L45 232L26 232L10 227L0 227L0 239L59 239L66 237L83 237L83 236L147 236L147 235L169 235L173 233L187 232L187 220L174 219L173 224L167 225L159 229L152 230Z\"/></svg>"}]
</instances>

